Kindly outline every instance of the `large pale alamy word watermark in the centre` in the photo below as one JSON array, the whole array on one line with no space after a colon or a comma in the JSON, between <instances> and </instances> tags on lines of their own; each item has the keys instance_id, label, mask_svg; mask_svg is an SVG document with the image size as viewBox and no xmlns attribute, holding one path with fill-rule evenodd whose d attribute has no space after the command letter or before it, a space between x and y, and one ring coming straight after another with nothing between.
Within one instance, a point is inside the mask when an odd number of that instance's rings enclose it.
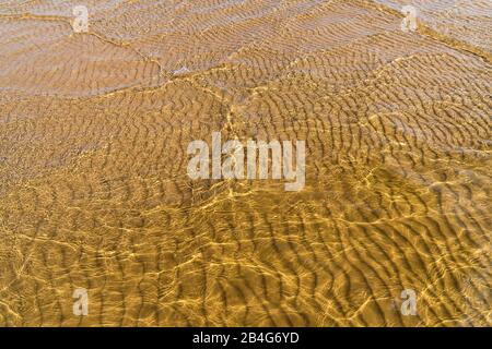
<instances>
[{"instance_id":1,"label":"large pale alamy word watermark in the centre","mask_svg":"<svg viewBox=\"0 0 492 349\"><path fill-rule=\"evenodd\" d=\"M305 141L295 143L295 169L291 141L249 140L244 145L238 140L222 144L220 132L212 133L212 152L204 141L188 144L187 154L194 155L188 163L188 176L198 179L271 179L288 181L286 191L300 191L305 185L306 146ZM271 154L271 158L270 158ZM225 155L223 159L223 155ZM246 168L245 168L246 164ZM271 166L269 166L271 165ZM211 168L210 168L211 167Z\"/></svg>"}]
</instances>

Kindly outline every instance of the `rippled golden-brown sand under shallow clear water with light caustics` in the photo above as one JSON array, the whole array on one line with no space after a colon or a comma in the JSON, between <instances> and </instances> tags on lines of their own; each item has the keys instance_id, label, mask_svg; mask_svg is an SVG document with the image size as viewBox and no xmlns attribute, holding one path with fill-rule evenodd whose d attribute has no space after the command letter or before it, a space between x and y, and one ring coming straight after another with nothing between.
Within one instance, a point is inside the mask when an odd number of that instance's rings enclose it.
<instances>
[{"instance_id":1,"label":"rippled golden-brown sand under shallow clear water with light caustics","mask_svg":"<svg viewBox=\"0 0 492 349\"><path fill-rule=\"evenodd\" d=\"M2 1L0 325L491 325L492 10L458 2ZM305 141L305 185L191 179L213 132Z\"/></svg>"}]
</instances>

